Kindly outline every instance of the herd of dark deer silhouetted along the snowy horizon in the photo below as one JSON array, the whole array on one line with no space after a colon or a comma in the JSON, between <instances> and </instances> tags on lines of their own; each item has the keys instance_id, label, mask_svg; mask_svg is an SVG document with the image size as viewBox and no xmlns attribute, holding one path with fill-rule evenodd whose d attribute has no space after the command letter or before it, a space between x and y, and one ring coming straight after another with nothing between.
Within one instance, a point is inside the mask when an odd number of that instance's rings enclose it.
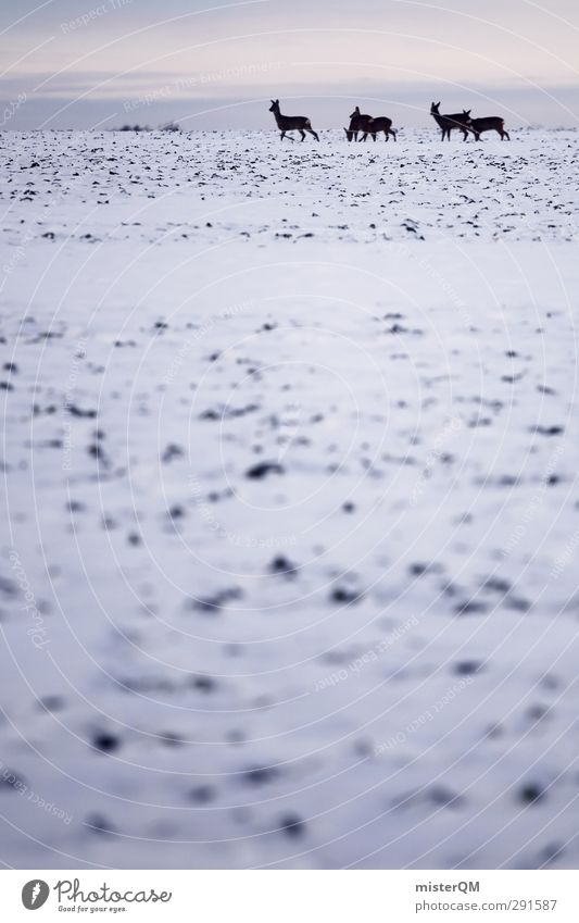
<instances>
[{"instance_id":1,"label":"herd of dark deer silhouetted along the snowy horizon","mask_svg":"<svg viewBox=\"0 0 579 923\"><path fill-rule=\"evenodd\" d=\"M498 115L488 115L484 119L471 119L470 109L463 109L462 112L441 115L439 109L440 102L433 102L430 107L430 115L440 128L442 141L444 138L448 138L450 141L453 128L456 128L462 133L463 141L466 141L469 134L473 134L475 136L475 141L478 141L480 140L480 136L483 132L496 132L501 136L502 141L504 141L505 138L507 141L511 140L508 132L506 132L504 127L504 119L500 119ZM299 132L302 136L302 141L304 140L305 133L307 132L310 135L314 136L316 141L319 141L319 135L312 128L310 119L305 115L282 115L279 110L278 99L272 100L269 112L274 113L277 127L280 132L281 141L288 132ZM356 105L350 115L350 125L348 128L344 128L344 132L349 141L365 141L368 135L375 141L376 136L379 135L380 132L383 132L385 141L388 141L390 135L394 141L397 140L397 133L392 128L391 119L388 119L386 115L379 115L376 117L374 115L363 113L360 111L358 105ZM293 140L291 135L289 137Z\"/></svg>"}]
</instances>

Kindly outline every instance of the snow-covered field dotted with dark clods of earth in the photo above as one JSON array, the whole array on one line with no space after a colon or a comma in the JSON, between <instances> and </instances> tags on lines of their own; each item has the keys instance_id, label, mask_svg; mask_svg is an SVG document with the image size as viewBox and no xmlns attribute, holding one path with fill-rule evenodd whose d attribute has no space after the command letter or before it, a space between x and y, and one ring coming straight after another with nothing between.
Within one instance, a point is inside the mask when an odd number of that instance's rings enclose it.
<instances>
[{"instance_id":1,"label":"snow-covered field dotted with dark clods of earth","mask_svg":"<svg viewBox=\"0 0 579 923\"><path fill-rule=\"evenodd\" d=\"M0 136L4 864L577 868L579 134L512 138Z\"/></svg>"}]
</instances>

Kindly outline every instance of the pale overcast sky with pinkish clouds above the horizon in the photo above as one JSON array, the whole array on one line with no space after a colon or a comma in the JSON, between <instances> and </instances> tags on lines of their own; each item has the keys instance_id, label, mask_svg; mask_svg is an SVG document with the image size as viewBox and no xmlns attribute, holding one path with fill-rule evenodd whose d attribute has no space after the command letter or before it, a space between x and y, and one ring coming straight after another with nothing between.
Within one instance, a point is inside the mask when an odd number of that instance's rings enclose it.
<instances>
[{"instance_id":1,"label":"pale overcast sky with pinkish clouds above the horizon","mask_svg":"<svg viewBox=\"0 0 579 923\"><path fill-rule=\"evenodd\" d=\"M579 0L1 0L3 128L577 125Z\"/></svg>"}]
</instances>

